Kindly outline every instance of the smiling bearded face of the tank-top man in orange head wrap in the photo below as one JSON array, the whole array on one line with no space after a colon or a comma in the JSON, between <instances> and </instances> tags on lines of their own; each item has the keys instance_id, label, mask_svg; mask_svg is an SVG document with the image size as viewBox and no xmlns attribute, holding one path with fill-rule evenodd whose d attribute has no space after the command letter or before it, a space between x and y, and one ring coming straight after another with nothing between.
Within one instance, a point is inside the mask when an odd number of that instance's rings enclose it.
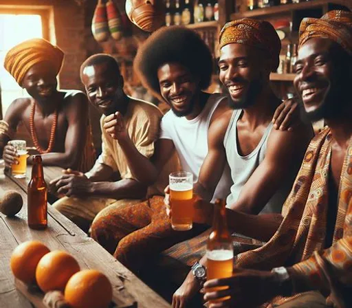
<instances>
[{"instance_id":1,"label":"smiling bearded face of the tank-top man in orange head wrap","mask_svg":"<svg viewBox=\"0 0 352 308\"><path fill-rule=\"evenodd\" d=\"M219 79L228 89L229 103L234 109L245 109L256 102L265 83L262 52L243 44L221 48Z\"/></svg>"}]
</instances>

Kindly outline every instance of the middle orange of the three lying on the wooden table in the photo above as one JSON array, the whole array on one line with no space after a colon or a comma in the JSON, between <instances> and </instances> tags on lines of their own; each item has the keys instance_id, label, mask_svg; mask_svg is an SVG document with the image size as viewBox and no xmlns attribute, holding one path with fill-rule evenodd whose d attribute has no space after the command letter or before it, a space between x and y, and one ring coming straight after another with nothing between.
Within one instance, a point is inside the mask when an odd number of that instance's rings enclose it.
<instances>
[{"instance_id":1,"label":"middle orange of the three lying on the wooden table","mask_svg":"<svg viewBox=\"0 0 352 308\"><path fill-rule=\"evenodd\" d=\"M45 254L36 266L36 283L43 290L63 291L69 278L80 270L76 259L62 250Z\"/></svg>"}]
</instances>

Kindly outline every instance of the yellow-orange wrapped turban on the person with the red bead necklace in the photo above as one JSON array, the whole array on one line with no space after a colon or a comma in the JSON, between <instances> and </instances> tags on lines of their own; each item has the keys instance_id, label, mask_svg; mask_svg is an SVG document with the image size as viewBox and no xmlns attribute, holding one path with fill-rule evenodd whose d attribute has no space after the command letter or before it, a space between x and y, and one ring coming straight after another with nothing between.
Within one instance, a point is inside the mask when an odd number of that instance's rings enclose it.
<instances>
[{"instance_id":1,"label":"yellow-orange wrapped turban on the person with the red bead necklace","mask_svg":"<svg viewBox=\"0 0 352 308\"><path fill-rule=\"evenodd\" d=\"M30 39L9 50L3 66L21 85L28 69L43 61L52 63L58 74L63 64L63 51L44 39Z\"/></svg>"}]
</instances>

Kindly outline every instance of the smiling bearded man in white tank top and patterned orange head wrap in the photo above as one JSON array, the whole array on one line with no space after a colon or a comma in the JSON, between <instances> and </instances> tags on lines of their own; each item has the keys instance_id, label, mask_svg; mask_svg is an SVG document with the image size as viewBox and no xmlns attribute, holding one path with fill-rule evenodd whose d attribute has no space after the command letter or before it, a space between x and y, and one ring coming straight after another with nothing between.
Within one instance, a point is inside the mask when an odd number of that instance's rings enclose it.
<instances>
[{"instance_id":1,"label":"smiling bearded man in white tank top and patterned orange head wrap","mask_svg":"<svg viewBox=\"0 0 352 308\"><path fill-rule=\"evenodd\" d=\"M221 177L219 170L228 162L234 183L228 208L248 214L280 213L313 130L303 123L290 131L272 129L281 100L270 87L270 72L278 67L281 42L270 23L251 19L228 23L219 41L219 78L228 89L231 110L210 126L209 151L195 189L212 195ZM211 216L205 209L212 207L199 209L198 222ZM192 294L192 289L197 289L197 282L190 272L175 292L174 302L185 302L184 294Z\"/></svg>"}]
</instances>

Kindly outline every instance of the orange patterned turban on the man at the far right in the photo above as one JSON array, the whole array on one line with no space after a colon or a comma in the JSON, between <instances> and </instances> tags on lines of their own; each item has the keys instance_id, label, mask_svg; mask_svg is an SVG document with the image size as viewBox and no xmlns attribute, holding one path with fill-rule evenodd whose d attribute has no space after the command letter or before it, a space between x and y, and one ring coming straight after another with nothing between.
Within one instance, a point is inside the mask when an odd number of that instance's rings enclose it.
<instances>
[{"instance_id":1,"label":"orange patterned turban on the man at the far right","mask_svg":"<svg viewBox=\"0 0 352 308\"><path fill-rule=\"evenodd\" d=\"M333 10L323 15L321 19L303 19L300 23L298 48L315 37L331 39L352 55L352 12Z\"/></svg>"}]
</instances>

